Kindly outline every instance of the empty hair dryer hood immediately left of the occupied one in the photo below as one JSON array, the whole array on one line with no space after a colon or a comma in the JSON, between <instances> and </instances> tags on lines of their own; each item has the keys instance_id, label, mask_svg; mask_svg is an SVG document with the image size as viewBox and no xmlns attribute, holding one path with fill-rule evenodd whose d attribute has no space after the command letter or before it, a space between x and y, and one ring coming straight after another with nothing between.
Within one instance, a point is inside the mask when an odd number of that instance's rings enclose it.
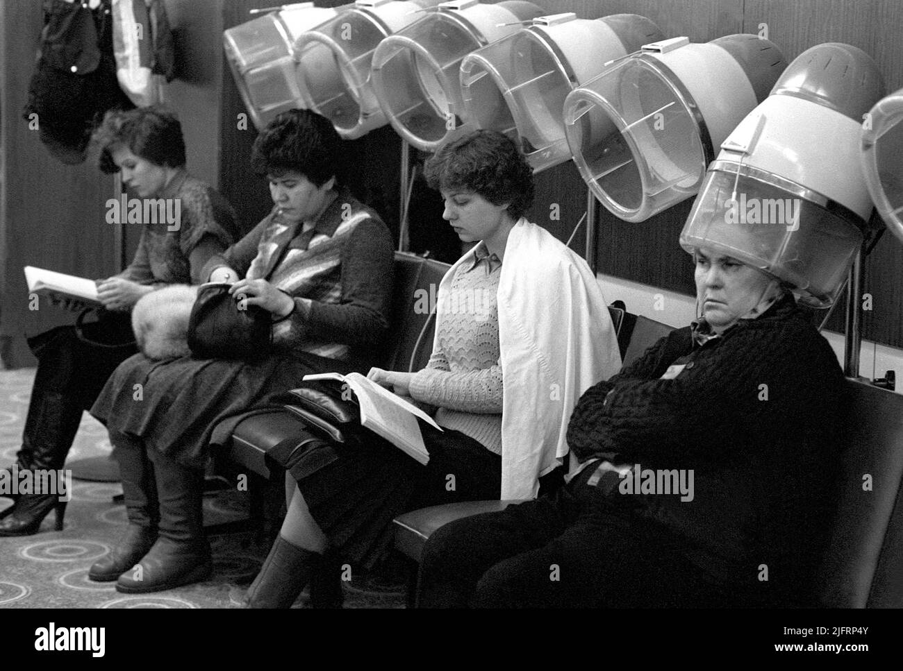
<instances>
[{"instance_id":1,"label":"empty hair dryer hood immediately left of the occupied one","mask_svg":"<svg viewBox=\"0 0 903 671\"><path fill-rule=\"evenodd\" d=\"M574 163L612 214L644 221L697 193L715 148L786 66L758 35L647 44L567 97Z\"/></svg>"}]
</instances>

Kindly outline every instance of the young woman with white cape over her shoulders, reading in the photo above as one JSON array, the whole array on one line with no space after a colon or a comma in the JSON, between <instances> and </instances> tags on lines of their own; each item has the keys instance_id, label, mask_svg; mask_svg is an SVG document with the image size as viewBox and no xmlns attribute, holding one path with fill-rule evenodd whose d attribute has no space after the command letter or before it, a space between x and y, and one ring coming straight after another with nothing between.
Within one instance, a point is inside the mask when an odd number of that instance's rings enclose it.
<instances>
[{"instance_id":1,"label":"young woman with white cape over her shoulders, reading","mask_svg":"<svg viewBox=\"0 0 903 671\"><path fill-rule=\"evenodd\" d=\"M445 218L477 243L439 290L433 354L415 373L371 380L432 406L424 466L374 438L368 450L298 481L282 530L247 592L253 608L287 608L324 553L373 565L391 521L451 501L532 498L563 463L564 427L582 391L619 370L608 308L586 262L524 218L533 177L514 142L479 131L427 163Z\"/></svg>"}]
</instances>

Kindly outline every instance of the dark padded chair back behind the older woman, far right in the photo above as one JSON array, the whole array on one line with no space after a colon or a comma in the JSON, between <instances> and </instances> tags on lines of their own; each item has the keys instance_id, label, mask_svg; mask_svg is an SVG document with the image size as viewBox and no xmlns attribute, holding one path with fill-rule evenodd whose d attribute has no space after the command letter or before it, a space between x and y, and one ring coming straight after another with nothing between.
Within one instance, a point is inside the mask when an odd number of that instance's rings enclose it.
<instances>
[{"instance_id":1,"label":"dark padded chair back behind the older woman, far right","mask_svg":"<svg viewBox=\"0 0 903 671\"><path fill-rule=\"evenodd\" d=\"M846 381L833 537L819 576L826 606L903 606L903 396ZM870 487L868 481L870 480Z\"/></svg>"}]
</instances>

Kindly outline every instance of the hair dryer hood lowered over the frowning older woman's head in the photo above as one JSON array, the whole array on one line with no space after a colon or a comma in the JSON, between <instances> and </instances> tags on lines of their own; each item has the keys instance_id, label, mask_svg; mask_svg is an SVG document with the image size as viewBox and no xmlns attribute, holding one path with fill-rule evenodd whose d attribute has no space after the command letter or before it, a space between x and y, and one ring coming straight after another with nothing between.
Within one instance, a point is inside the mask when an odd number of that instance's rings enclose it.
<instances>
[{"instance_id":1,"label":"hair dryer hood lowered over the frowning older woman's head","mask_svg":"<svg viewBox=\"0 0 903 671\"><path fill-rule=\"evenodd\" d=\"M861 123L883 95L864 51L804 51L721 144L680 244L734 257L787 282L801 303L830 307L871 215Z\"/></svg>"}]
</instances>

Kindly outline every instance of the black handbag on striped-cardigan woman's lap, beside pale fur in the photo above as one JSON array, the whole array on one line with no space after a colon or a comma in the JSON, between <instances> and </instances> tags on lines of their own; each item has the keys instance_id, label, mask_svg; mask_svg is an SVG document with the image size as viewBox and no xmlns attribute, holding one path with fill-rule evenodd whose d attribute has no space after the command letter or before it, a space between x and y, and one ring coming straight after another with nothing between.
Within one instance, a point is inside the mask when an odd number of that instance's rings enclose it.
<instances>
[{"instance_id":1,"label":"black handbag on striped-cardigan woman's lap, beside pale fur","mask_svg":"<svg viewBox=\"0 0 903 671\"><path fill-rule=\"evenodd\" d=\"M273 318L231 296L229 286L207 284L198 290L188 322L191 354L199 359L263 358L273 346Z\"/></svg>"}]
</instances>

